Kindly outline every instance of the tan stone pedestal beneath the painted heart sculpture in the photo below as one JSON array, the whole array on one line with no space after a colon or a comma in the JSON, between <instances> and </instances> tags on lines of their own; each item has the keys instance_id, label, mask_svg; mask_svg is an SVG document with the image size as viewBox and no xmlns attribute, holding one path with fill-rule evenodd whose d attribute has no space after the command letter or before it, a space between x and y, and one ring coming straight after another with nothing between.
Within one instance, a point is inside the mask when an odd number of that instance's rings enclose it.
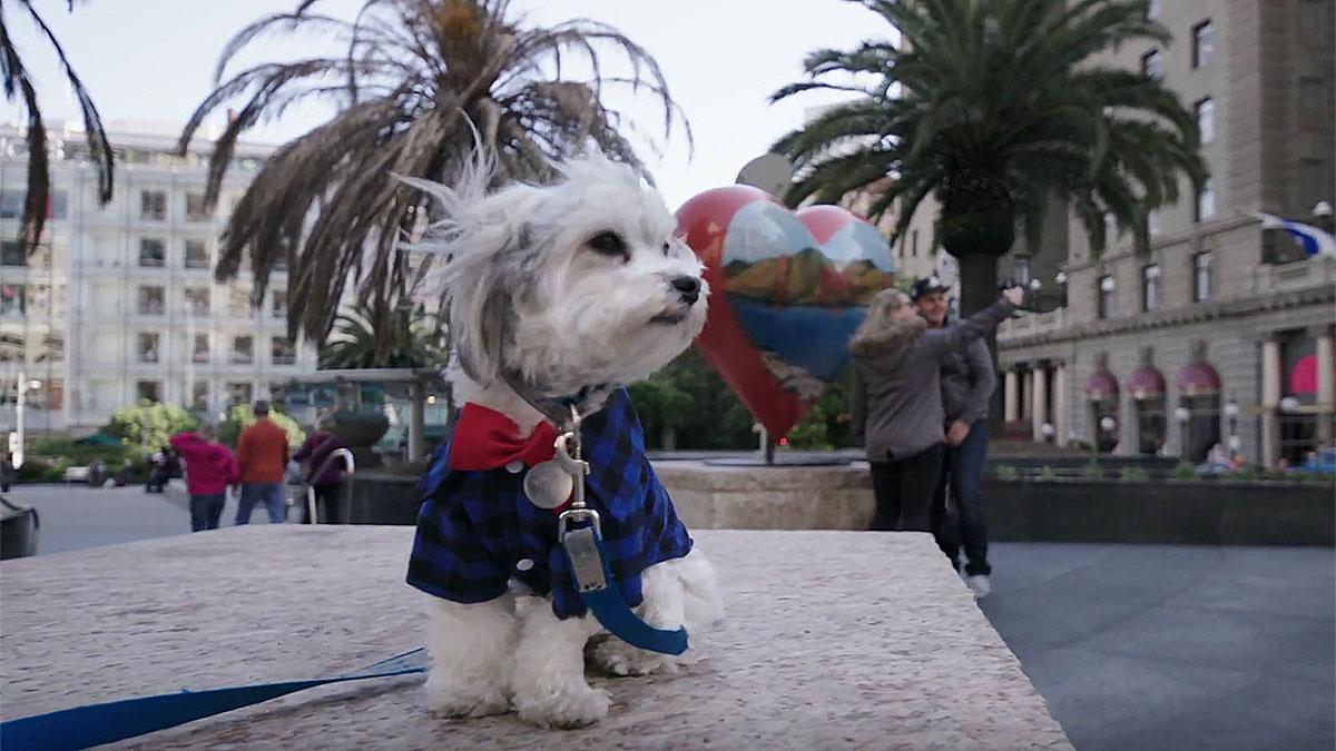
<instances>
[{"instance_id":1,"label":"tan stone pedestal beneath the painted heart sculpture","mask_svg":"<svg viewBox=\"0 0 1336 751\"><path fill-rule=\"evenodd\" d=\"M867 529L876 509L862 461L835 466L659 461L655 472L693 529Z\"/></svg>"}]
</instances>

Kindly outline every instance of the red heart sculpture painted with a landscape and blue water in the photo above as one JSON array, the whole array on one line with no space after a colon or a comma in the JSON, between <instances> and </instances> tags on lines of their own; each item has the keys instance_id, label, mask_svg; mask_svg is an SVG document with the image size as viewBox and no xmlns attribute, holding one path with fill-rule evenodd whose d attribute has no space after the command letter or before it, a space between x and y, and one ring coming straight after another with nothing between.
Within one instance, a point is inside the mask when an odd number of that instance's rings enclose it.
<instances>
[{"instance_id":1,"label":"red heart sculpture painted with a landscape and blue water","mask_svg":"<svg viewBox=\"0 0 1336 751\"><path fill-rule=\"evenodd\" d=\"M778 441L848 362L867 302L891 286L891 249L839 206L792 212L748 186L692 198L677 233L712 290L696 345Z\"/></svg>"}]
</instances>

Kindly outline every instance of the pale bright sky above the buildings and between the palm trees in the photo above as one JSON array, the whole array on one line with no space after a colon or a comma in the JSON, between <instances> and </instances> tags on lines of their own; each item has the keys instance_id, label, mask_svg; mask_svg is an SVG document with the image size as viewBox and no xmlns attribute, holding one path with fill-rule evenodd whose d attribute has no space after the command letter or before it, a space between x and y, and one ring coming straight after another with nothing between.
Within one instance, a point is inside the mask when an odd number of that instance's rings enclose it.
<instances>
[{"instance_id":1,"label":"pale bright sky above the buildings and between the palm trees","mask_svg":"<svg viewBox=\"0 0 1336 751\"><path fill-rule=\"evenodd\" d=\"M73 13L65 12L64 0L35 4L106 122L154 120L178 131L210 91L227 40L261 16L293 9L295 0L88 0L76 3ZM351 19L361 4L323 0L317 8ZM514 0L513 8L530 24L573 17L612 24L657 59L691 123L693 151L681 130L664 138L661 115L648 99L637 102L624 94L607 99L632 114L663 152L639 148L671 210L700 191L731 184L748 160L802 124L807 110L840 99L814 92L768 104L772 91L802 78L807 52L852 47L890 31L847 0ZM36 76L43 115L48 120L76 116L55 57L13 4L5 5L5 24ZM248 65L327 49L329 39L283 36L257 44L238 61ZM282 143L330 114L321 107L289 111L246 140ZM19 120L21 111L4 103L0 115L8 123Z\"/></svg>"}]
</instances>

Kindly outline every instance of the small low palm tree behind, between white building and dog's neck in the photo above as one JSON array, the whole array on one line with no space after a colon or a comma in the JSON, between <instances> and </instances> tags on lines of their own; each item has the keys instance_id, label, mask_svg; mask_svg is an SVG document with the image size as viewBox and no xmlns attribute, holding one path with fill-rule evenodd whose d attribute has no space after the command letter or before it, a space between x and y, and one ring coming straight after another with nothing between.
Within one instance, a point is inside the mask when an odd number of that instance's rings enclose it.
<instances>
[{"instance_id":1,"label":"small low palm tree behind, between white building and dog's neck","mask_svg":"<svg viewBox=\"0 0 1336 751\"><path fill-rule=\"evenodd\" d=\"M394 318L398 321L378 335L370 311L355 309L339 314L321 347L321 367L428 367L445 362L449 346L425 310L395 311Z\"/></svg>"}]
</instances>

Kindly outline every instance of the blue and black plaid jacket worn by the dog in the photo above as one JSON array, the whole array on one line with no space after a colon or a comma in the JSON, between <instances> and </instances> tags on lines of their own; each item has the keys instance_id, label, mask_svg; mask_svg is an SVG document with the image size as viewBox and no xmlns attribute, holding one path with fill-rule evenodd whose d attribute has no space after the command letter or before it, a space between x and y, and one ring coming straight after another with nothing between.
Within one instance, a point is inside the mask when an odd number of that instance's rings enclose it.
<instances>
[{"instance_id":1,"label":"blue and black plaid jacket worn by the dog","mask_svg":"<svg viewBox=\"0 0 1336 751\"><path fill-rule=\"evenodd\" d=\"M636 607L640 572L689 553L691 536L649 466L644 430L624 389L584 420L581 444L589 462L585 502L599 512L621 596ZM529 502L522 473L452 470L449 450L449 442L441 446L420 484L426 501L407 583L456 603L482 603L504 595L516 579L538 595L550 593L557 617L582 616L584 601L557 545L557 514Z\"/></svg>"}]
</instances>

